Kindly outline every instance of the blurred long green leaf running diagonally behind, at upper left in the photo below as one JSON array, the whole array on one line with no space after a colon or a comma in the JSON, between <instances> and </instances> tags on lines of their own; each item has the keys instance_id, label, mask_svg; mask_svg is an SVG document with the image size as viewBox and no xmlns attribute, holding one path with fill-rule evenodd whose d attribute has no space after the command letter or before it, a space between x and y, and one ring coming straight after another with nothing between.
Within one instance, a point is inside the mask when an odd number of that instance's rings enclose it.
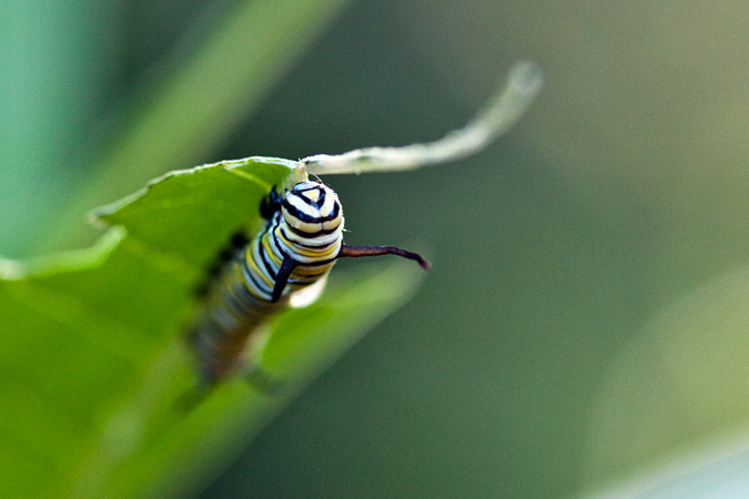
<instances>
[{"instance_id":1,"label":"blurred long green leaf running diagonally behind, at upper left","mask_svg":"<svg viewBox=\"0 0 749 499\"><path fill-rule=\"evenodd\" d=\"M135 92L129 123L57 214L45 241L80 236L80 215L163 172L210 157L348 0L243 0L180 64Z\"/></svg>"}]
</instances>

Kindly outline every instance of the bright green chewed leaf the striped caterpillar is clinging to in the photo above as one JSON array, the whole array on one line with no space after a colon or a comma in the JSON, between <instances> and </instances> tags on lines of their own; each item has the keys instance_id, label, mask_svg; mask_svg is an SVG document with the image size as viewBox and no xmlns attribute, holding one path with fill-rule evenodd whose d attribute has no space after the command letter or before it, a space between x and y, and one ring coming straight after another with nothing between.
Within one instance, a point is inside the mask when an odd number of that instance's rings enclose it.
<instances>
[{"instance_id":1,"label":"bright green chewed leaf the striped caterpillar is clinging to","mask_svg":"<svg viewBox=\"0 0 749 499\"><path fill-rule=\"evenodd\" d=\"M250 157L168 174L97 215L98 245L0 259L0 482L4 497L180 496L217 473L305 384L413 293L397 263L280 314L263 364L201 399L182 333L193 289L237 228L254 230L294 162Z\"/></svg>"}]
</instances>

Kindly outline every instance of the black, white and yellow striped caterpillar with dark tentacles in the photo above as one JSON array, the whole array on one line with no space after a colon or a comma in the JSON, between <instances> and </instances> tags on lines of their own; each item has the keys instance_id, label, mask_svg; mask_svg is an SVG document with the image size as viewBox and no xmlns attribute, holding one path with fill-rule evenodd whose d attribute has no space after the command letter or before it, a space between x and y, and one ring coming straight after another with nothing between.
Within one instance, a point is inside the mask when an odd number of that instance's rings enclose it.
<instances>
[{"instance_id":1,"label":"black, white and yellow striped caterpillar with dark tentacles","mask_svg":"<svg viewBox=\"0 0 749 499\"><path fill-rule=\"evenodd\" d=\"M251 241L232 238L233 251L209 283L189 333L201 383L213 386L232 375L251 375L246 352L265 320L289 305L293 293L318 283L337 258L397 255L428 268L418 254L394 246L343 244L337 194L318 182L300 182L263 200L263 230Z\"/></svg>"}]
</instances>

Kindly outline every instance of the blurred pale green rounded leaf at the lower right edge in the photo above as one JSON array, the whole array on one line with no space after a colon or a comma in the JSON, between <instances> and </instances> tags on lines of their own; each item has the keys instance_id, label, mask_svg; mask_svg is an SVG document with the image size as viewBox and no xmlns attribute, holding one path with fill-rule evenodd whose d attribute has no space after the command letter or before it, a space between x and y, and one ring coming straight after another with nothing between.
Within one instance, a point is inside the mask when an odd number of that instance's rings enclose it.
<instances>
[{"instance_id":1,"label":"blurred pale green rounded leaf at the lower right edge","mask_svg":"<svg viewBox=\"0 0 749 499\"><path fill-rule=\"evenodd\" d=\"M684 459L685 449L695 471L716 448L733 451L746 440L748 301L745 265L671 302L620 348L591 411L588 481L652 482L654 470ZM685 472L682 464L671 475Z\"/></svg>"}]
</instances>

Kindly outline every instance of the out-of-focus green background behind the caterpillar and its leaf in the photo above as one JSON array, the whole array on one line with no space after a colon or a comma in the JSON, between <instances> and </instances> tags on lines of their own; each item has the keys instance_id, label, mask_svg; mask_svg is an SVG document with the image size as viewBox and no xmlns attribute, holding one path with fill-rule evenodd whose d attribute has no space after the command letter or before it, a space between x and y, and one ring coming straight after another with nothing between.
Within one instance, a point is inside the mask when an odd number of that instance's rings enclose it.
<instances>
[{"instance_id":1,"label":"out-of-focus green background behind the caterpillar and its leaf","mask_svg":"<svg viewBox=\"0 0 749 499\"><path fill-rule=\"evenodd\" d=\"M240 4L0 2L0 254L87 244L87 210L163 173L102 157ZM170 167L432 140L518 59L547 82L476 157L324 179L351 244L434 271L202 498L570 497L746 428L749 7L320 1L301 18L252 105Z\"/></svg>"}]
</instances>

